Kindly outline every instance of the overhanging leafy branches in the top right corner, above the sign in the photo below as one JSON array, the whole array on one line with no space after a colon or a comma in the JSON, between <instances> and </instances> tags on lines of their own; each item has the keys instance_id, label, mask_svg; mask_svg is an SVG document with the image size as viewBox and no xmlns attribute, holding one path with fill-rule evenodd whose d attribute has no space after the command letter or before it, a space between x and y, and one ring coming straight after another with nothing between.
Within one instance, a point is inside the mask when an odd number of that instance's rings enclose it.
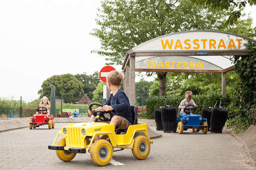
<instances>
[{"instance_id":1,"label":"overhanging leafy branches in the top right corner, above the sign","mask_svg":"<svg viewBox=\"0 0 256 170\"><path fill-rule=\"evenodd\" d=\"M247 3L250 4L250 6L256 5L256 0L192 0L192 2L198 5L210 5L211 8L215 10L232 11L229 14L225 26L227 26L228 24L232 25L241 17L241 11L244 10L244 7ZM233 6L235 6L236 8L232 8Z\"/></svg>"}]
</instances>

